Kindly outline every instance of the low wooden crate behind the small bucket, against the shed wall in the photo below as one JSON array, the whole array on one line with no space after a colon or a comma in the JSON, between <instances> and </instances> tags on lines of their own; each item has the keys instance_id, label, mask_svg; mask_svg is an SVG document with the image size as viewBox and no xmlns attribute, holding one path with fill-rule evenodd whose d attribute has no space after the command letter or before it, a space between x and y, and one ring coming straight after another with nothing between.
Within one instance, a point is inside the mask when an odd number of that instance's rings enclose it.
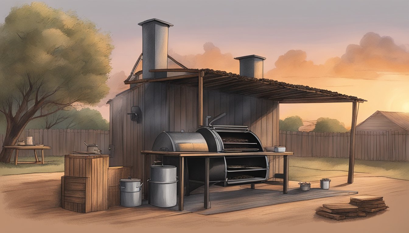
<instances>
[{"instance_id":1,"label":"low wooden crate behind the small bucket, against the shed wall","mask_svg":"<svg viewBox=\"0 0 409 233\"><path fill-rule=\"evenodd\" d=\"M132 166L112 166L108 168L108 206L119 206L119 180L132 175Z\"/></svg>"}]
</instances>

